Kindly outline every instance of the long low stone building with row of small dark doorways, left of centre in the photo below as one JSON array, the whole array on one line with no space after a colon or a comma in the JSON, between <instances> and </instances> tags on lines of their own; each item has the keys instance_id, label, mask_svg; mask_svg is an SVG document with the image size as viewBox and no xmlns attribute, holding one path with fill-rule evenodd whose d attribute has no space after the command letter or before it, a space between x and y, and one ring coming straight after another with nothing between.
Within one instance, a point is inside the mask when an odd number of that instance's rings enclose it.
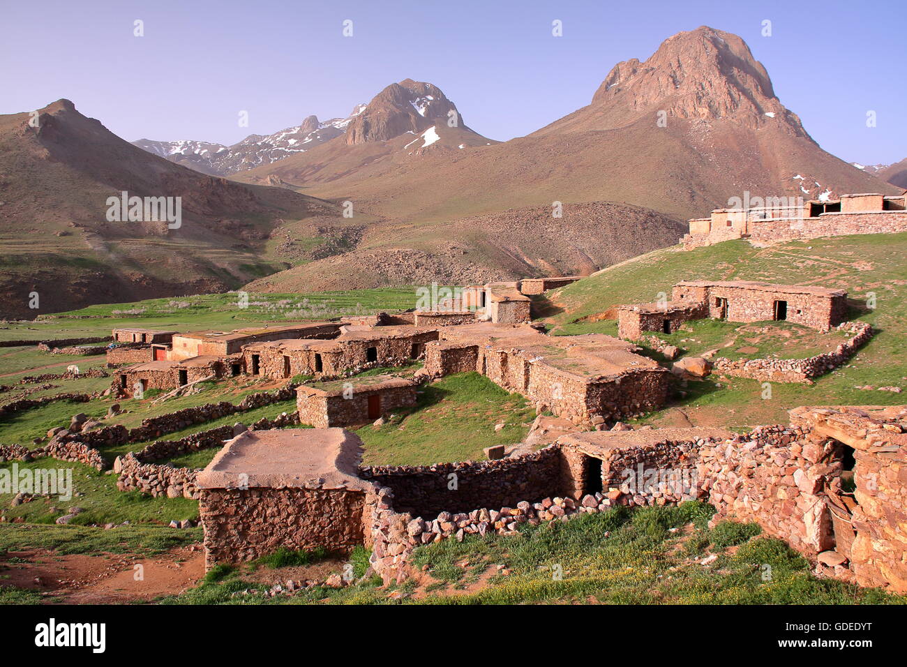
<instances>
[{"instance_id":1,"label":"long low stone building with row of small dark doorways, left of centre","mask_svg":"<svg viewBox=\"0 0 907 667\"><path fill-rule=\"evenodd\" d=\"M242 358L250 375L334 377L358 368L402 366L422 358L425 344L437 338L434 329L406 325L345 325L333 339L253 343L242 348Z\"/></svg>"}]
</instances>

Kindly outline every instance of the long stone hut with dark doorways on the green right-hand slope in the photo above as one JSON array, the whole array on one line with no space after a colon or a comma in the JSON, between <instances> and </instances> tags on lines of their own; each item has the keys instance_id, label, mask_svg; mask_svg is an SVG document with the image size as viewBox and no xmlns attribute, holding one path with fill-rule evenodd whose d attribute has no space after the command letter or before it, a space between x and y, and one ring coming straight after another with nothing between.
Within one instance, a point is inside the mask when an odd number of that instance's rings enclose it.
<instances>
[{"instance_id":1,"label":"long stone hut with dark doorways on the green right-hand slope","mask_svg":"<svg viewBox=\"0 0 907 667\"><path fill-rule=\"evenodd\" d=\"M827 331L847 316L844 289L752 280L683 280L674 286L671 296L672 305L705 304L707 317L732 322L787 320Z\"/></svg>"}]
</instances>

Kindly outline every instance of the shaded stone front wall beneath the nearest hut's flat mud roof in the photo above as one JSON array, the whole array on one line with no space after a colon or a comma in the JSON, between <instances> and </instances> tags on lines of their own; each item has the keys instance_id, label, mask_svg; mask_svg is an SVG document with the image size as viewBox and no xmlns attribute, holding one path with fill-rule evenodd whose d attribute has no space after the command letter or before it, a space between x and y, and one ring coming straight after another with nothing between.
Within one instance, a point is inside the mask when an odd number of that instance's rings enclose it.
<instances>
[{"instance_id":1,"label":"shaded stone front wall beneath the nearest hut's flat mud roof","mask_svg":"<svg viewBox=\"0 0 907 667\"><path fill-rule=\"evenodd\" d=\"M327 488L200 489L205 564L292 550L348 552L366 541L366 493Z\"/></svg>"}]
</instances>

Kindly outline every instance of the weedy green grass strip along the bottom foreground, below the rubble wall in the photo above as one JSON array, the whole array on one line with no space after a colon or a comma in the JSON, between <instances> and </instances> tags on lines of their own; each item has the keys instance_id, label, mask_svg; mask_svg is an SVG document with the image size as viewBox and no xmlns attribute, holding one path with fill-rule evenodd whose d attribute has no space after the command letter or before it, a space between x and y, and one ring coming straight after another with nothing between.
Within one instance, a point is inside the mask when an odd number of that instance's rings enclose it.
<instances>
[{"instance_id":1,"label":"weedy green grass strip along the bottom foreground, below the rubble wall","mask_svg":"<svg viewBox=\"0 0 907 667\"><path fill-rule=\"evenodd\" d=\"M380 587L317 587L292 597L231 593L261 588L225 568L166 603L907 603L907 597L816 579L803 557L757 525L707 528L702 503L583 515L566 524L522 525L518 535L467 535L414 552L413 579ZM707 564L707 556L717 559ZM355 559L354 564L360 559ZM766 565L768 567L766 567ZM424 571L423 571L423 568ZM273 580L280 579L280 571ZM359 574L359 571L356 571Z\"/></svg>"}]
</instances>

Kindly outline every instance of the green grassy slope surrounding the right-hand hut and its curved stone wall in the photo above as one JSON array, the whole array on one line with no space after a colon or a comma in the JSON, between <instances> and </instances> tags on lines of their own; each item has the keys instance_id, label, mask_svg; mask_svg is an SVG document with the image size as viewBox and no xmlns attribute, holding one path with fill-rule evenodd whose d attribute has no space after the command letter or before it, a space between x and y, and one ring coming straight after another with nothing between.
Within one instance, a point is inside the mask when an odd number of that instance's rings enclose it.
<instances>
[{"instance_id":1,"label":"green grassy slope surrounding the right-hand hut and its curved stone wall","mask_svg":"<svg viewBox=\"0 0 907 667\"><path fill-rule=\"evenodd\" d=\"M786 410L796 406L901 404L902 393L879 387L907 390L905 253L907 233L791 241L766 248L732 240L688 252L677 247L656 250L551 292L550 308L559 312L548 321L555 332L614 334L614 320L596 316L619 304L657 300L659 292L669 295L679 280L764 280L846 289L852 317L879 330L850 363L813 386L774 383L767 399L755 380L691 382L688 397L649 421L743 427L786 423ZM871 295L875 309L866 307ZM866 386L873 388L857 388Z\"/></svg>"}]
</instances>

